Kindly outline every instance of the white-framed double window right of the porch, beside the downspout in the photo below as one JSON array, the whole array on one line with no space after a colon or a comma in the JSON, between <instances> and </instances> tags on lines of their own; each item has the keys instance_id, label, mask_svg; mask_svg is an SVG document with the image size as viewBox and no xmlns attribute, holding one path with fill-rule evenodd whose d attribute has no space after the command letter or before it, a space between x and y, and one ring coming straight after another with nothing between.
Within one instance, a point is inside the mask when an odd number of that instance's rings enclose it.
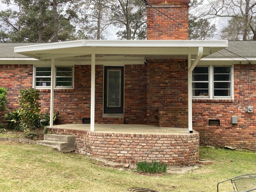
<instances>
[{"instance_id":1,"label":"white-framed double window right of the porch, beside the downspout","mask_svg":"<svg viewBox=\"0 0 256 192\"><path fill-rule=\"evenodd\" d=\"M192 72L193 98L231 98L231 66L197 66Z\"/></svg>"}]
</instances>

